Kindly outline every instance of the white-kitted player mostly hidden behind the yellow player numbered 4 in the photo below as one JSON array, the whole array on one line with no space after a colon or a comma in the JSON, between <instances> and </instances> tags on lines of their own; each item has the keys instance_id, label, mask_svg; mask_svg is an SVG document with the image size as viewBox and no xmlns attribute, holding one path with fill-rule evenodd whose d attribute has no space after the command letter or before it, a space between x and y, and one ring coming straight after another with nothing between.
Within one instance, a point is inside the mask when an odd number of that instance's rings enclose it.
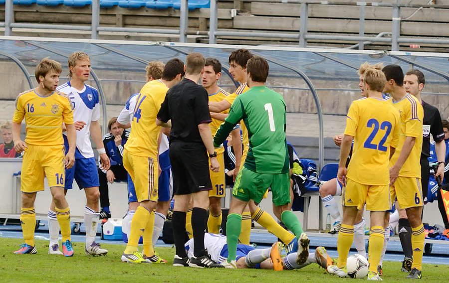
<instances>
[{"instance_id":1,"label":"white-kitted player mostly hidden behind the yellow player numbered 4","mask_svg":"<svg viewBox=\"0 0 449 283\"><path fill-rule=\"evenodd\" d=\"M173 61L174 63L178 61ZM178 62L179 63L179 62ZM184 63L183 63L184 64ZM162 78L164 71L164 64L161 61L151 61L145 68L146 70L146 82L152 80L159 80ZM136 99L138 93L133 94L125 104L125 107L120 112L117 118L117 123L120 127L128 129L131 128L131 120L134 108L136 106ZM162 132L166 131L162 128ZM170 130L166 131L167 135L170 134ZM172 170L170 164L170 158L168 156L169 141L166 135L161 135L161 144L159 146L159 165L161 167L161 175L159 176L159 200L155 208L155 220L154 220L154 230L153 230L153 245L156 244L162 228L164 227L164 222L166 220L167 212L170 208L170 200L173 195L173 184L172 184ZM123 219L122 230L130 231L131 220L133 215L139 206L137 201L136 191L134 189L134 184L132 183L131 177L128 174L128 202L129 210L125 218Z\"/></svg>"}]
</instances>

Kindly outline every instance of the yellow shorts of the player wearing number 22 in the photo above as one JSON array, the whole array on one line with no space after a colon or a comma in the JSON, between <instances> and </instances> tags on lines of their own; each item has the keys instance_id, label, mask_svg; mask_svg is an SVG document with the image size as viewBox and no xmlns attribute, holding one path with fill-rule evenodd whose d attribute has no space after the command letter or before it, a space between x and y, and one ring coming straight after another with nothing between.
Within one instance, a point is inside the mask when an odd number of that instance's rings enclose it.
<instances>
[{"instance_id":1,"label":"yellow shorts of the player wearing number 22","mask_svg":"<svg viewBox=\"0 0 449 283\"><path fill-rule=\"evenodd\" d=\"M364 185L346 178L346 184L341 192L341 204L357 206L362 210L366 203L368 211L387 211L391 209L388 185Z\"/></svg>"}]
</instances>

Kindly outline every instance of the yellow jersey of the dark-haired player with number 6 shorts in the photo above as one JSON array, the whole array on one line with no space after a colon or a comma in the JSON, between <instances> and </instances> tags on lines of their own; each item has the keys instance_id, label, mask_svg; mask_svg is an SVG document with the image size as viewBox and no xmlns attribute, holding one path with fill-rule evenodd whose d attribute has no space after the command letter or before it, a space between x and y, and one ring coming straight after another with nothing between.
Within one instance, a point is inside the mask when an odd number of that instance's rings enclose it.
<instances>
[{"instance_id":1,"label":"yellow jersey of the dark-haired player with number 6 shorts","mask_svg":"<svg viewBox=\"0 0 449 283\"><path fill-rule=\"evenodd\" d=\"M409 93L400 101L390 99L389 103L399 111L401 117L401 137L395 154L390 160L390 165L393 166L398 161L406 138L414 137L415 144L399 171L399 176L421 178L420 157L423 147L423 106L416 97Z\"/></svg>"}]
</instances>

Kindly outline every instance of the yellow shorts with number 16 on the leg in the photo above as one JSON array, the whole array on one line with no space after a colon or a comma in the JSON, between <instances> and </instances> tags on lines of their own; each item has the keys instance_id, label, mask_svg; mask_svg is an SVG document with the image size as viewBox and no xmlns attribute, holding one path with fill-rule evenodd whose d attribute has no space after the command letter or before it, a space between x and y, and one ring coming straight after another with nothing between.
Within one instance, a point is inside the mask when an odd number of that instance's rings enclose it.
<instances>
[{"instance_id":1,"label":"yellow shorts with number 16 on the leg","mask_svg":"<svg viewBox=\"0 0 449 283\"><path fill-rule=\"evenodd\" d=\"M23 153L20 191L34 193L44 190L44 177L48 186L64 187L65 149L64 145L32 145Z\"/></svg>"}]
</instances>

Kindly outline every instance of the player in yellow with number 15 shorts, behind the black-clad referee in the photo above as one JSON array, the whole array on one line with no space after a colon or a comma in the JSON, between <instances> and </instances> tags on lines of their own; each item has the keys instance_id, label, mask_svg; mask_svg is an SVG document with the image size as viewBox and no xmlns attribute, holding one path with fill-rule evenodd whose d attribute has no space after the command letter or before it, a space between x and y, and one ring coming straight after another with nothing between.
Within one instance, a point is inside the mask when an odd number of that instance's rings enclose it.
<instances>
[{"instance_id":1,"label":"player in yellow with number 15 shorts, behind the black-clad referee","mask_svg":"<svg viewBox=\"0 0 449 283\"><path fill-rule=\"evenodd\" d=\"M215 58L207 58L204 66L204 72L202 76L203 87L207 90L209 95L209 102L220 102L229 95L224 89L217 85L218 80L222 76L222 64ZM229 111L225 110L221 113L211 113L212 122L209 124L211 127L212 137L220 128L223 123L221 120L216 119L219 115L224 115L226 118ZM233 130L233 136L240 137L240 129ZM240 145L241 147L241 145ZM223 145L216 148L217 160L220 162L220 171L213 172L209 170L211 174L212 190L209 191L209 219L208 219L208 232L219 234L220 226L222 224L222 208L221 198L225 197L225 148Z\"/></svg>"}]
</instances>

